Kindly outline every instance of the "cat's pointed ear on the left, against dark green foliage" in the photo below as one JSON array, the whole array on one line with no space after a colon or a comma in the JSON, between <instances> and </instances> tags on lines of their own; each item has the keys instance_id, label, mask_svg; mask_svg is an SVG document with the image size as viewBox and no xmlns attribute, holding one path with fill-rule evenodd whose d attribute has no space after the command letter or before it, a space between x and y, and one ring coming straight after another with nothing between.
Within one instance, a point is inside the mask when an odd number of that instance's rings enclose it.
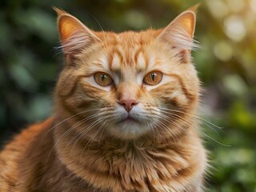
<instances>
[{"instance_id":1,"label":"cat's pointed ear on the left, against dark green foliage","mask_svg":"<svg viewBox=\"0 0 256 192\"><path fill-rule=\"evenodd\" d=\"M58 14L58 34L64 54L78 54L80 50L91 46L99 38L82 22L71 14L54 7Z\"/></svg>"}]
</instances>

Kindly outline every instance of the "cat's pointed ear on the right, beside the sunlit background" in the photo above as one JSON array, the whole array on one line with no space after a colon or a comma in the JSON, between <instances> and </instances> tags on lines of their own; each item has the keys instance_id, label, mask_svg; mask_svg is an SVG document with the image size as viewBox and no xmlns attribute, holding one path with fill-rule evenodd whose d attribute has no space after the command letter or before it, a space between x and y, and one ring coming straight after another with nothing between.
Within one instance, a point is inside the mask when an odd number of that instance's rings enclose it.
<instances>
[{"instance_id":1,"label":"cat's pointed ear on the right, beside the sunlit background","mask_svg":"<svg viewBox=\"0 0 256 192\"><path fill-rule=\"evenodd\" d=\"M177 56L182 62L188 62L190 51L198 47L193 40L197 8L198 5L179 14L158 35L159 40L167 42L172 49L177 50Z\"/></svg>"}]
</instances>

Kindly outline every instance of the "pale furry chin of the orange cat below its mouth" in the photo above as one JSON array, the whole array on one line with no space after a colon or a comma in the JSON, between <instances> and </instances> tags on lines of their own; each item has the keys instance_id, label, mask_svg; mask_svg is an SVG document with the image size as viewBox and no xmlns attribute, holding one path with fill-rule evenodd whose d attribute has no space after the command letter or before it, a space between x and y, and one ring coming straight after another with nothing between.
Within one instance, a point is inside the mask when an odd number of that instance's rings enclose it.
<instances>
[{"instance_id":1,"label":"pale furry chin of the orange cat below its mouth","mask_svg":"<svg viewBox=\"0 0 256 192\"><path fill-rule=\"evenodd\" d=\"M149 126L142 122L118 122L117 124L110 126L110 134L116 138L122 139L135 139L141 137L150 131Z\"/></svg>"}]
</instances>

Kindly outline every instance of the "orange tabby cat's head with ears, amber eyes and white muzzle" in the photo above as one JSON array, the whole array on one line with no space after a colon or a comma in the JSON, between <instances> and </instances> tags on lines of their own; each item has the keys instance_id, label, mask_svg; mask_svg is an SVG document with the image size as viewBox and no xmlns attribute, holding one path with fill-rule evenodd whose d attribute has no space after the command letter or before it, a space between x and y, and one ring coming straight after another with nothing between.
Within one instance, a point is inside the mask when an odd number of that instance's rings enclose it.
<instances>
[{"instance_id":1,"label":"orange tabby cat's head with ears, amber eyes and white muzzle","mask_svg":"<svg viewBox=\"0 0 256 192\"><path fill-rule=\"evenodd\" d=\"M65 57L57 115L83 136L170 138L184 133L198 105L195 9L160 30L96 32L63 10L58 31Z\"/></svg>"}]
</instances>

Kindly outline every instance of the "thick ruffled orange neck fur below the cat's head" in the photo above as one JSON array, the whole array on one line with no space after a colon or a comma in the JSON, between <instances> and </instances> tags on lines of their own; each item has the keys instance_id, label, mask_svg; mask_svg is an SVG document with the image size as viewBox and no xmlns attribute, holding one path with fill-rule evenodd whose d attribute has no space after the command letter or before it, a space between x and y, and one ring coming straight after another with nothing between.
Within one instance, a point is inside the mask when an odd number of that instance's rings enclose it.
<instances>
[{"instance_id":1,"label":"thick ruffled orange neck fur below the cat's head","mask_svg":"<svg viewBox=\"0 0 256 192\"><path fill-rule=\"evenodd\" d=\"M191 167L194 174L198 174L195 169L198 169L203 149L193 129L178 140L169 142L152 138L122 140L111 137L95 142L74 138L75 134L72 131L67 133L63 127L54 130L59 160L99 191L165 191L170 178L186 174ZM191 158L195 159L193 166L190 165Z\"/></svg>"}]
</instances>

